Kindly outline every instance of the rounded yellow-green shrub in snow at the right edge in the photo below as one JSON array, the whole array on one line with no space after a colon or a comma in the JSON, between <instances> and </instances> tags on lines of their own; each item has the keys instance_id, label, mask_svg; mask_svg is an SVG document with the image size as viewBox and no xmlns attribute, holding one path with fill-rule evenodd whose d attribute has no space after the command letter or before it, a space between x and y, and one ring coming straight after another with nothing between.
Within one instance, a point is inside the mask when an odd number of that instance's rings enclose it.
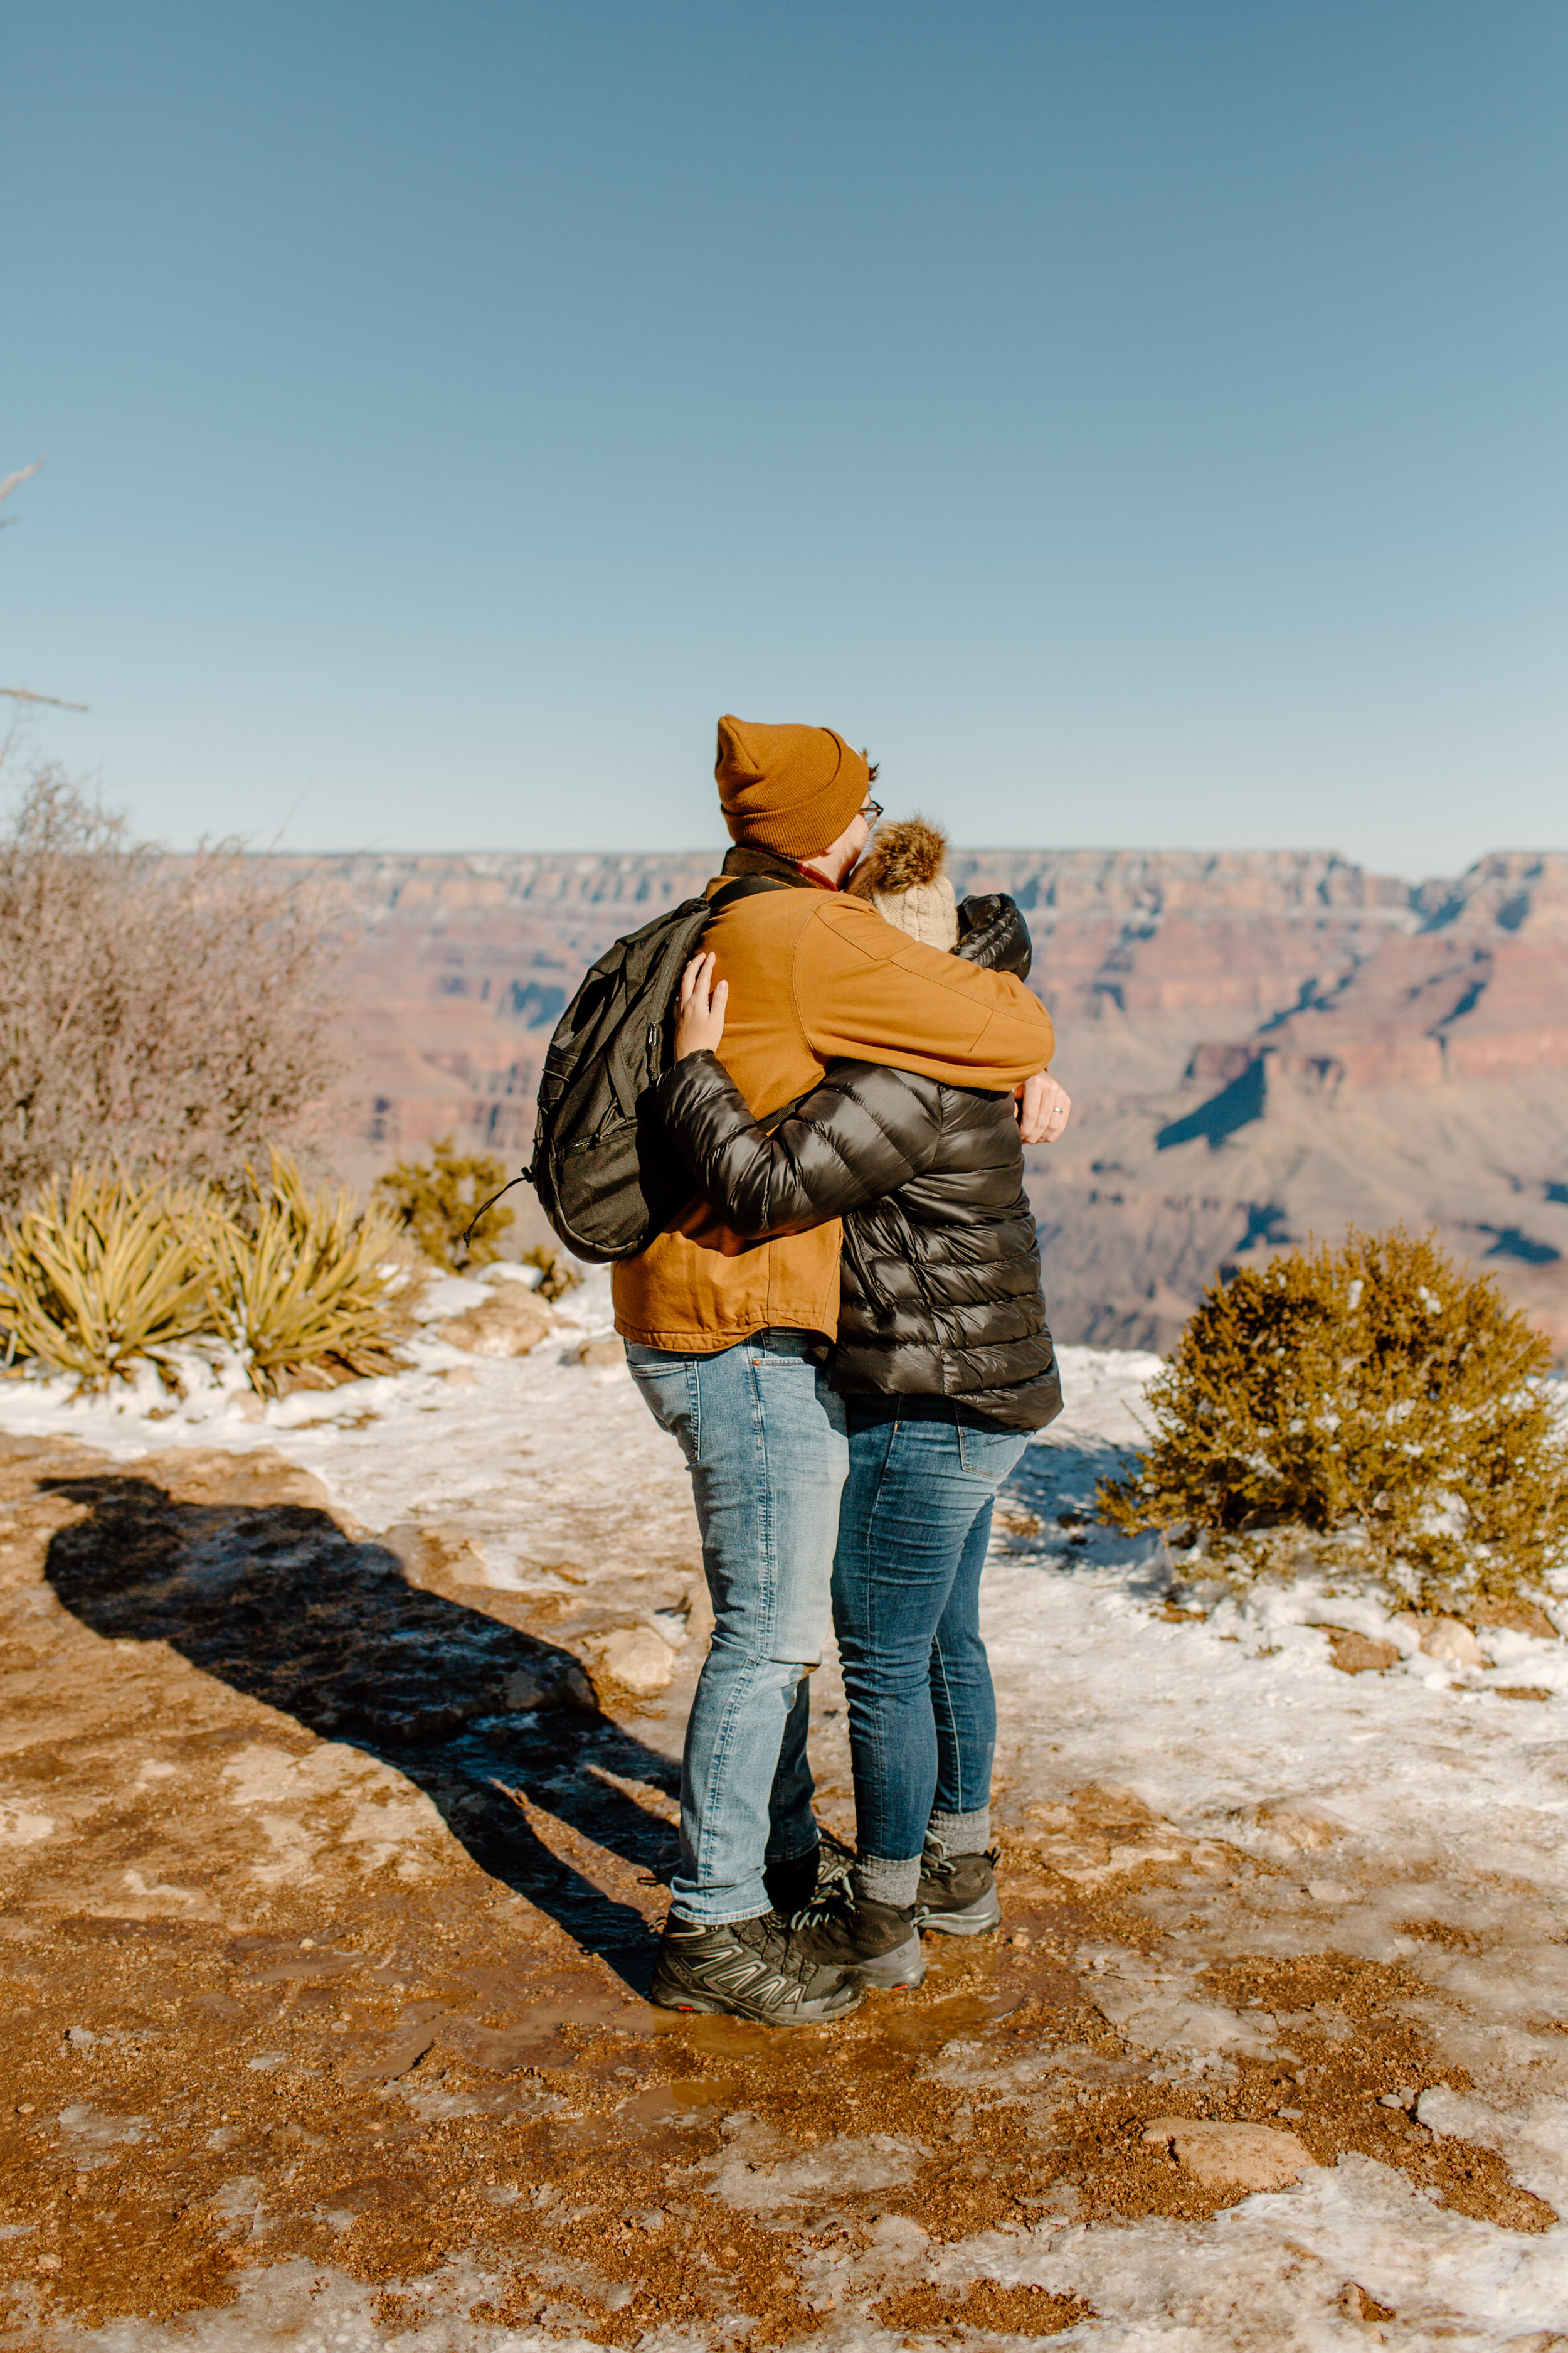
<instances>
[{"instance_id":1,"label":"rounded yellow-green shrub in snow at the right edge","mask_svg":"<svg viewBox=\"0 0 1568 2353\"><path fill-rule=\"evenodd\" d=\"M1403 1593L1507 1598L1568 1553L1547 1341L1488 1275L1403 1228L1213 1282L1154 1379L1154 1433L1105 1480L1117 1527L1241 1569L1305 1529Z\"/></svg>"}]
</instances>

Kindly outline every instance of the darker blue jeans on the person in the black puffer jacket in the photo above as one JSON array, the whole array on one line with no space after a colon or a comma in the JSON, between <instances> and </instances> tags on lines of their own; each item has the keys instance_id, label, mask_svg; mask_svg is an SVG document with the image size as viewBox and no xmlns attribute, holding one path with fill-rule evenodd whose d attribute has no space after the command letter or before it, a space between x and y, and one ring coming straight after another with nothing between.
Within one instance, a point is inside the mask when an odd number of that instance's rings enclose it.
<instances>
[{"instance_id":1,"label":"darker blue jeans on the person in the black puffer jacket","mask_svg":"<svg viewBox=\"0 0 1568 2353\"><path fill-rule=\"evenodd\" d=\"M924 1402L924 1400L922 1400ZM849 1482L832 1565L856 1847L907 1861L933 1812L990 1805L997 1694L980 1640L992 1501L1023 1431L849 1400Z\"/></svg>"}]
</instances>

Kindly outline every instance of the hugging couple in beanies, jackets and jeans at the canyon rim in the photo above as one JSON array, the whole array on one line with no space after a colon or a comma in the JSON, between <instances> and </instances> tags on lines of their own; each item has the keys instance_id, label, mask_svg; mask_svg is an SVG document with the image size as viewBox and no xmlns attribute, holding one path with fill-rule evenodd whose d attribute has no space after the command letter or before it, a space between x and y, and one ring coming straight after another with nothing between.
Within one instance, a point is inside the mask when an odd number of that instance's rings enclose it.
<instances>
[{"instance_id":1,"label":"hugging couple in beanies, jackets and jeans at the canyon rim","mask_svg":"<svg viewBox=\"0 0 1568 2353\"><path fill-rule=\"evenodd\" d=\"M882 809L860 753L724 718L715 774L736 847L708 896L764 887L715 913L658 1087L703 1198L614 1268L715 1614L651 1998L792 2026L917 1986L922 1927L1001 1918L978 1595L997 1487L1060 1412L1023 1144L1070 1106L1018 908L954 908L929 826L863 856ZM830 1612L846 1875L806 1762Z\"/></svg>"}]
</instances>

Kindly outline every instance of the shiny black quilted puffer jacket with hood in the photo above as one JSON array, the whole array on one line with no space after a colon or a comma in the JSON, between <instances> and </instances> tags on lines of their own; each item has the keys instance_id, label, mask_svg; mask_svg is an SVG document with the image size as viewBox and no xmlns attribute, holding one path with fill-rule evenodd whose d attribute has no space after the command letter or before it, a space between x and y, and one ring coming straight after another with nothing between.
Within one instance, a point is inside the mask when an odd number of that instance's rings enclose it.
<instances>
[{"instance_id":1,"label":"shiny black quilted puffer jacket with hood","mask_svg":"<svg viewBox=\"0 0 1568 2353\"><path fill-rule=\"evenodd\" d=\"M959 925L959 955L1030 969L1011 899L969 899ZM947 1398L1013 1431L1060 1414L1011 1094L835 1061L788 1118L757 1122L717 1054L686 1054L658 1101L738 1235L844 1219L837 1391Z\"/></svg>"}]
</instances>

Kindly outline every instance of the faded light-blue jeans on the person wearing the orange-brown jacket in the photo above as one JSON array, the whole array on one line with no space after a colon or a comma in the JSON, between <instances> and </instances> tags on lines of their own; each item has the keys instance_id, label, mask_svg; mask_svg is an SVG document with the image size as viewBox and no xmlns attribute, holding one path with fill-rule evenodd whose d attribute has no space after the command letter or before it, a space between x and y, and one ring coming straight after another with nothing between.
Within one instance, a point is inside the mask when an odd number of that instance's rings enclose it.
<instances>
[{"instance_id":1,"label":"faded light-blue jeans on the person wearing the orange-brown jacket","mask_svg":"<svg viewBox=\"0 0 1568 2353\"><path fill-rule=\"evenodd\" d=\"M809 1332L752 1332L717 1355L628 1341L625 1360L661 1428L679 1440L703 1532L712 1647L682 1755L675 1911L717 1927L769 1908L764 1861L806 1854L809 1673L823 1657L844 1400Z\"/></svg>"}]
</instances>

